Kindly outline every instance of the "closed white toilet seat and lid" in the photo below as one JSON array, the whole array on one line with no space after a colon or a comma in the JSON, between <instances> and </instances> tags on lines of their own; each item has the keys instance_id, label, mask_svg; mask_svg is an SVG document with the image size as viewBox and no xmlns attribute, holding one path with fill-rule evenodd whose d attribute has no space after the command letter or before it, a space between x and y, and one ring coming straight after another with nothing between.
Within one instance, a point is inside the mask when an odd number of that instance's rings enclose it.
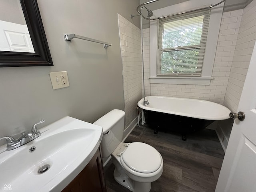
<instances>
[{"instance_id":1,"label":"closed white toilet seat and lid","mask_svg":"<svg viewBox=\"0 0 256 192\"><path fill-rule=\"evenodd\" d=\"M122 166L130 168L132 172L142 174L156 172L162 164L160 153L152 146L142 142L131 143L120 160Z\"/></svg>"}]
</instances>

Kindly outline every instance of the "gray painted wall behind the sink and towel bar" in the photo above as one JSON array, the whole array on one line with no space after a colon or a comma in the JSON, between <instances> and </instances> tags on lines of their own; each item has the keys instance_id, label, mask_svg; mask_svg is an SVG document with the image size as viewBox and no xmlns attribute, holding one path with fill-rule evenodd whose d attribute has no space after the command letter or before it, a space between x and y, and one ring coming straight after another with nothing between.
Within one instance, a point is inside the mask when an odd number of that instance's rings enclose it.
<instances>
[{"instance_id":1,"label":"gray painted wall behind the sink and towel bar","mask_svg":"<svg viewBox=\"0 0 256 192\"><path fill-rule=\"evenodd\" d=\"M54 66L0 68L0 137L13 136L42 119L46 126L64 116L94 122L116 108L124 110L120 13L139 26L139 0L38 0ZM95 38L103 45L63 34ZM49 72L66 70L70 87L53 90ZM4 144L1 141L0 144Z\"/></svg>"}]
</instances>

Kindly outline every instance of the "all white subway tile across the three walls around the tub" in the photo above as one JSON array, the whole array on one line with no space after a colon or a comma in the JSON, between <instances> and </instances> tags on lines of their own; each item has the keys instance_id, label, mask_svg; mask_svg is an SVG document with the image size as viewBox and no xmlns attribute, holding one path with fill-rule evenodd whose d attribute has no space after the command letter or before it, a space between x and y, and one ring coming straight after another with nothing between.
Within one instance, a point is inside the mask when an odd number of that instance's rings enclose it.
<instances>
[{"instance_id":1,"label":"all white subway tile across the three walls around the tub","mask_svg":"<svg viewBox=\"0 0 256 192\"><path fill-rule=\"evenodd\" d=\"M256 0L224 12L210 85L150 84L150 30L143 29L145 95L209 100L236 112L256 40ZM126 127L142 98L140 29L118 15L122 52ZM142 88L142 91L141 91Z\"/></svg>"}]
</instances>

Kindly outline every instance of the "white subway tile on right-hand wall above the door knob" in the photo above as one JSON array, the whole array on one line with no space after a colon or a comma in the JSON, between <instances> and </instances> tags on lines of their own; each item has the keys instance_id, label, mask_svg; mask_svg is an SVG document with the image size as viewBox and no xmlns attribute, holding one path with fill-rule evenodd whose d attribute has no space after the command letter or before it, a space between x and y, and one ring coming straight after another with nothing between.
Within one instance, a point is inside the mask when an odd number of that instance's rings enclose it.
<instances>
[{"instance_id":1,"label":"white subway tile on right-hand wall above the door knob","mask_svg":"<svg viewBox=\"0 0 256 192\"><path fill-rule=\"evenodd\" d=\"M236 22L241 23L238 34L233 34L237 35L236 49L224 99L224 105L236 112L256 40L256 0L246 6L243 12L231 12L229 18L232 18L232 26L235 26ZM223 23L225 19L222 19Z\"/></svg>"}]
</instances>

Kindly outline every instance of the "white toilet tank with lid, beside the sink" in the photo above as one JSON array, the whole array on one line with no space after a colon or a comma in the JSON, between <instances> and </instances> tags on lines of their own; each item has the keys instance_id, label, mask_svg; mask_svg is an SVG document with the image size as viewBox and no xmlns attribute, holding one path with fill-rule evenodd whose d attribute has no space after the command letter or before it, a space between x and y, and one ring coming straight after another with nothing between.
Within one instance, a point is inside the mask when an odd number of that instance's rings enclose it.
<instances>
[{"instance_id":1,"label":"white toilet tank with lid, beside the sink","mask_svg":"<svg viewBox=\"0 0 256 192\"><path fill-rule=\"evenodd\" d=\"M103 158L110 156L118 144L122 142L124 115L124 111L114 109L93 123L103 128L103 137L100 143Z\"/></svg>"}]
</instances>

